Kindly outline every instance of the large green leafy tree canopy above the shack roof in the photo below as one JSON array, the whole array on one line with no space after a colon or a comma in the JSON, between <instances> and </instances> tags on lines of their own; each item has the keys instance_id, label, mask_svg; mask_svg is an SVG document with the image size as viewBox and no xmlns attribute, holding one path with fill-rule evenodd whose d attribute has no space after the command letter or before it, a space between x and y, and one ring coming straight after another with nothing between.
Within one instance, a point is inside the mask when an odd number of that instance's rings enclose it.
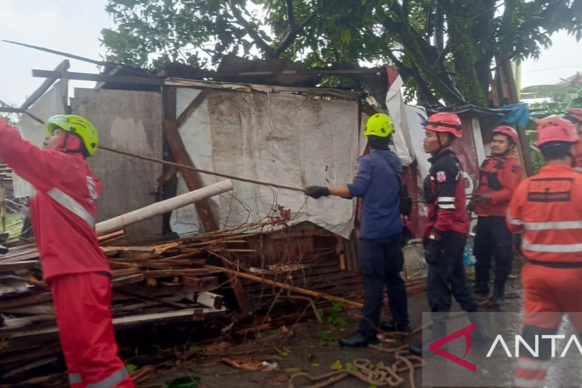
<instances>
[{"instance_id":1,"label":"large green leafy tree canopy above the shack roof","mask_svg":"<svg viewBox=\"0 0 582 388\"><path fill-rule=\"evenodd\" d=\"M236 54L335 69L392 63L414 91L407 98L429 103L484 105L494 58L537 58L558 30L582 37L582 0L109 0L106 10L116 23L102 30L109 60L215 68ZM374 92L365 77L325 83Z\"/></svg>"}]
</instances>

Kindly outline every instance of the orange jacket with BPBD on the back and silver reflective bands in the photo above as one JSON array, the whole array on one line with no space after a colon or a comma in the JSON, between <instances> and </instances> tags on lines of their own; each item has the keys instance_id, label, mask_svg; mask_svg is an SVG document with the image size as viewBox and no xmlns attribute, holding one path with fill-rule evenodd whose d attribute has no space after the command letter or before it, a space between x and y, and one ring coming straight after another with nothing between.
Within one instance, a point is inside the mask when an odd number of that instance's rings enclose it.
<instances>
[{"instance_id":1,"label":"orange jacket with BPBD on the back and silver reflective bands","mask_svg":"<svg viewBox=\"0 0 582 388\"><path fill-rule=\"evenodd\" d=\"M548 165L521 181L509 204L508 227L523 231L528 259L582 262L582 174Z\"/></svg>"}]
</instances>

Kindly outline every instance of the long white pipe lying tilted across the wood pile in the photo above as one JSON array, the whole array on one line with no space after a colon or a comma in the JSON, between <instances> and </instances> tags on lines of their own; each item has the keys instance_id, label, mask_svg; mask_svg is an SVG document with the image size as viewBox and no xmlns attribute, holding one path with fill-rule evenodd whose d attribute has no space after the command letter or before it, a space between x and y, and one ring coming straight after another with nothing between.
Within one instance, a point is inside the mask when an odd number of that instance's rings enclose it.
<instances>
[{"instance_id":1,"label":"long white pipe lying tilted across the wood pile","mask_svg":"<svg viewBox=\"0 0 582 388\"><path fill-rule=\"evenodd\" d=\"M95 230L97 231L97 234L113 232L115 230L123 229L127 225L132 225L133 223L143 221L144 219L182 208L186 205L214 197L214 195L226 193L226 191L230 190L232 190L232 181L230 181L230 179L223 180L211 184L210 186L199 188L198 190L190 191L186 194L177 195L168 200L155 202L155 204L147 205L144 208L102 221L95 225Z\"/></svg>"}]
</instances>

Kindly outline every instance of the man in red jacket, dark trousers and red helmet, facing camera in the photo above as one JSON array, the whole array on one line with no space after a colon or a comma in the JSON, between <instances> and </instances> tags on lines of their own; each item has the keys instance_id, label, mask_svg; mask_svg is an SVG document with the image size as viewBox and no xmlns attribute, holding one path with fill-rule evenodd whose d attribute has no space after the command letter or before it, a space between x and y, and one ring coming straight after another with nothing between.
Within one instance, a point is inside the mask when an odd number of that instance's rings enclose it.
<instances>
[{"instance_id":1,"label":"man in red jacket, dark trousers and red helmet, facing camera","mask_svg":"<svg viewBox=\"0 0 582 388\"><path fill-rule=\"evenodd\" d=\"M491 155L481 164L479 187L469 203L469 211L477 213L477 230L473 244L475 263L474 292L489 296L489 270L495 256L495 283L489 307L499 307L503 301L505 283L513 261L513 235L505 225L505 215L513 191L521 180L521 165L512 155L517 144L517 132L501 126L493 130Z\"/></svg>"}]
</instances>

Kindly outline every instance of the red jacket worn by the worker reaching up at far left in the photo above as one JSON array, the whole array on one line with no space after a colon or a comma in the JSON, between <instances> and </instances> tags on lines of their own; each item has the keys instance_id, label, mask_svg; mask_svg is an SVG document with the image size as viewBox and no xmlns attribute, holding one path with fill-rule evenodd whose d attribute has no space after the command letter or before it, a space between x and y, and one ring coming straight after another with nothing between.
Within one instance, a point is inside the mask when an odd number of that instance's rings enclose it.
<instances>
[{"instance_id":1,"label":"red jacket worn by the worker reaching up at far left","mask_svg":"<svg viewBox=\"0 0 582 388\"><path fill-rule=\"evenodd\" d=\"M37 190L29 207L45 281L66 273L109 273L95 230L47 194L57 188L95 217L101 184L83 156L40 149L0 119L0 159Z\"/></svg>"}]
</instances>

